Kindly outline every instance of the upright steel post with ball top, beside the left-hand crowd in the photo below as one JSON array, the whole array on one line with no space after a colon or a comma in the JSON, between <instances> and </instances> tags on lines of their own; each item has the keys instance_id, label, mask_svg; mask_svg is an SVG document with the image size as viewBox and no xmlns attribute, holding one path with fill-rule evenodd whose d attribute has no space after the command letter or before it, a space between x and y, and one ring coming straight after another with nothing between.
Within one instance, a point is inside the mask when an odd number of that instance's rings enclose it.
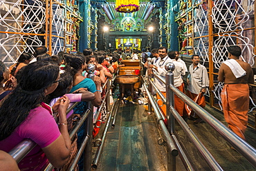
<instances>
[{"instance_id":1,"label":"upright steel post with ball top, beside the left-hand crowd","mask_svg":"<svg viewBox=\"0 0 256 171\"><path fill-rule=\"evenodd\" d=\"M88 78L94 80L94 70L95 66L93 64L89 64L87 66L87 70L89 72ZM86 147L84 148L84 170L91 170L91 156L92 156L92 149L93 149L93 105L91 102L89 102L89 108L91 108L91 112L88 115L86 121L85 121L85 132L86 135L89 137L89 141L86 144Z\"/></svg>"}]
</instances>

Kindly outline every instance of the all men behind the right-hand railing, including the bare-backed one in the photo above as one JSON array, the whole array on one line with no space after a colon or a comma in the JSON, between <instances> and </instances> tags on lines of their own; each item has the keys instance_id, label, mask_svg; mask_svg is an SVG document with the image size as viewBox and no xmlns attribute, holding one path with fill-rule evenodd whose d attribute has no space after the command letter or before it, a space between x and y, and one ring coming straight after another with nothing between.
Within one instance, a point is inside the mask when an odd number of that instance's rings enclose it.
<instances>
[{"instance_id":1,"label":"all men behind the right-hand railing, including the bare-backed one","mask_svg":"<svg viewBox=\"0 0 256 171\"><path fill-rule=\"evenodd\" d=\"M228 127L235 132L241 139L246 140L244 132L248 123L249 109L249 86L248 83L254 83L253 70L250 65L239 59L241 48L239 46L230 46L228 50L228 60L223 61L219 69L218 80L224 83L221 92L221 101L223 105L223 113L228 123ZM208 70L200 64L200 57L197 54L192 55L192 64L188 66L179 59L179 52L167 52L167 48L160 47L153 49L151 63L145 62L145 67L149 68L149 73L160 75L165 78L167 70L165 65L168 62L174 63L174 86L181 92L185 93L202 108L205 107L204 94L209 87ZM185 74L188 72L188 74ZM187 75L187 91L185 92L183 77ZM158 90L166 97L165 84L154 78L154 83ZM158 105L161 111L166 115L166 105L161 100L159 94L156 93ZM174 108L183 119L192 119L194 123L201 123L201 119L195 112L185 105L184 102L174 95Z\"/></svg>"}]
</instances>

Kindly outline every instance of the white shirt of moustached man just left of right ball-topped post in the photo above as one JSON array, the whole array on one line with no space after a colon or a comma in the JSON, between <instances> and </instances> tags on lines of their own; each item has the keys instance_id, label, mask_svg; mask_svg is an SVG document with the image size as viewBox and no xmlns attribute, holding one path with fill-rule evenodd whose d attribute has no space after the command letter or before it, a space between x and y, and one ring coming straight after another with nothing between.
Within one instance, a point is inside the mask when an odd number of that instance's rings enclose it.
<instances>
[{"instance_id":1,"label":"white shirt of moustached man just left of right ball-topped post","mask_svg":"<svg viewBox=\"0 0 256 171\"><path fill-rule=\"evenodd\" d=\"M153 68L153 70L155 71L155 74L157 74L158 76L161 76L161 77L163 77L163 79L165 79L165 74L167 73L167 70L165 70L165 65L168 62L172 62L171 60L172 59L170 59L168 57L168 55L166 57L164 57L163 59L158 58L158 60L155 60L154 66L156 66L157 70L158 70L158 71L156 71ZM154 78L154 83L156 84L156 88L158 88L158 90L160 90L161 92L166 92L165 84L162 81L158 80L157 78Z\"/></svg>"}]
</instances>

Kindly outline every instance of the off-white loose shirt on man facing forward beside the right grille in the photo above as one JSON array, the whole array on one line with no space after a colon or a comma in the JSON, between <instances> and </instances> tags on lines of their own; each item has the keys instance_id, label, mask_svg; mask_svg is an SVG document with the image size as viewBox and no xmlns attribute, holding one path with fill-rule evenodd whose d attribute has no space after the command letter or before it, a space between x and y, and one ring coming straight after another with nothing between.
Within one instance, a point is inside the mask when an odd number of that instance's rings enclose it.
<instances>
[{"instance_id":1,"label":"off-white loose shirt on man facing forward beside the right grille","mask_svg":"<svg viewBox=\"0 0 256 171\"><path fill-rule=\"evenodd\" d=\"M203 88L209 86L208 72L205 66L200 63L193 69L193 63L188 68L188 79L190 84L188 90L194 94L199 94Z\"/></svg>"}]
</instances>

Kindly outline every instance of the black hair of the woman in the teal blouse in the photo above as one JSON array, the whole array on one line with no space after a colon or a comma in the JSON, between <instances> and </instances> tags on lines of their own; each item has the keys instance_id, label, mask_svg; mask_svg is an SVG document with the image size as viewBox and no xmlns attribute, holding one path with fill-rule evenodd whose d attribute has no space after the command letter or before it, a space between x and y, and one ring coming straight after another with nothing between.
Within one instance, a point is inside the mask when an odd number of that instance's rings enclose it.
<instances>
[{"instance_id":1,"label":"black hair of the woman in the teal blouse","mask_svg":"<svg viewBox=\"0 0 256 171\"><path fill-rule=\"evenodd\" d=\"M70 72L71 76L74 77L78 70L82 68L85 59L80 54L64 54L66 59L66 67L64 70Z\"/></svg>"}]
</instances>

